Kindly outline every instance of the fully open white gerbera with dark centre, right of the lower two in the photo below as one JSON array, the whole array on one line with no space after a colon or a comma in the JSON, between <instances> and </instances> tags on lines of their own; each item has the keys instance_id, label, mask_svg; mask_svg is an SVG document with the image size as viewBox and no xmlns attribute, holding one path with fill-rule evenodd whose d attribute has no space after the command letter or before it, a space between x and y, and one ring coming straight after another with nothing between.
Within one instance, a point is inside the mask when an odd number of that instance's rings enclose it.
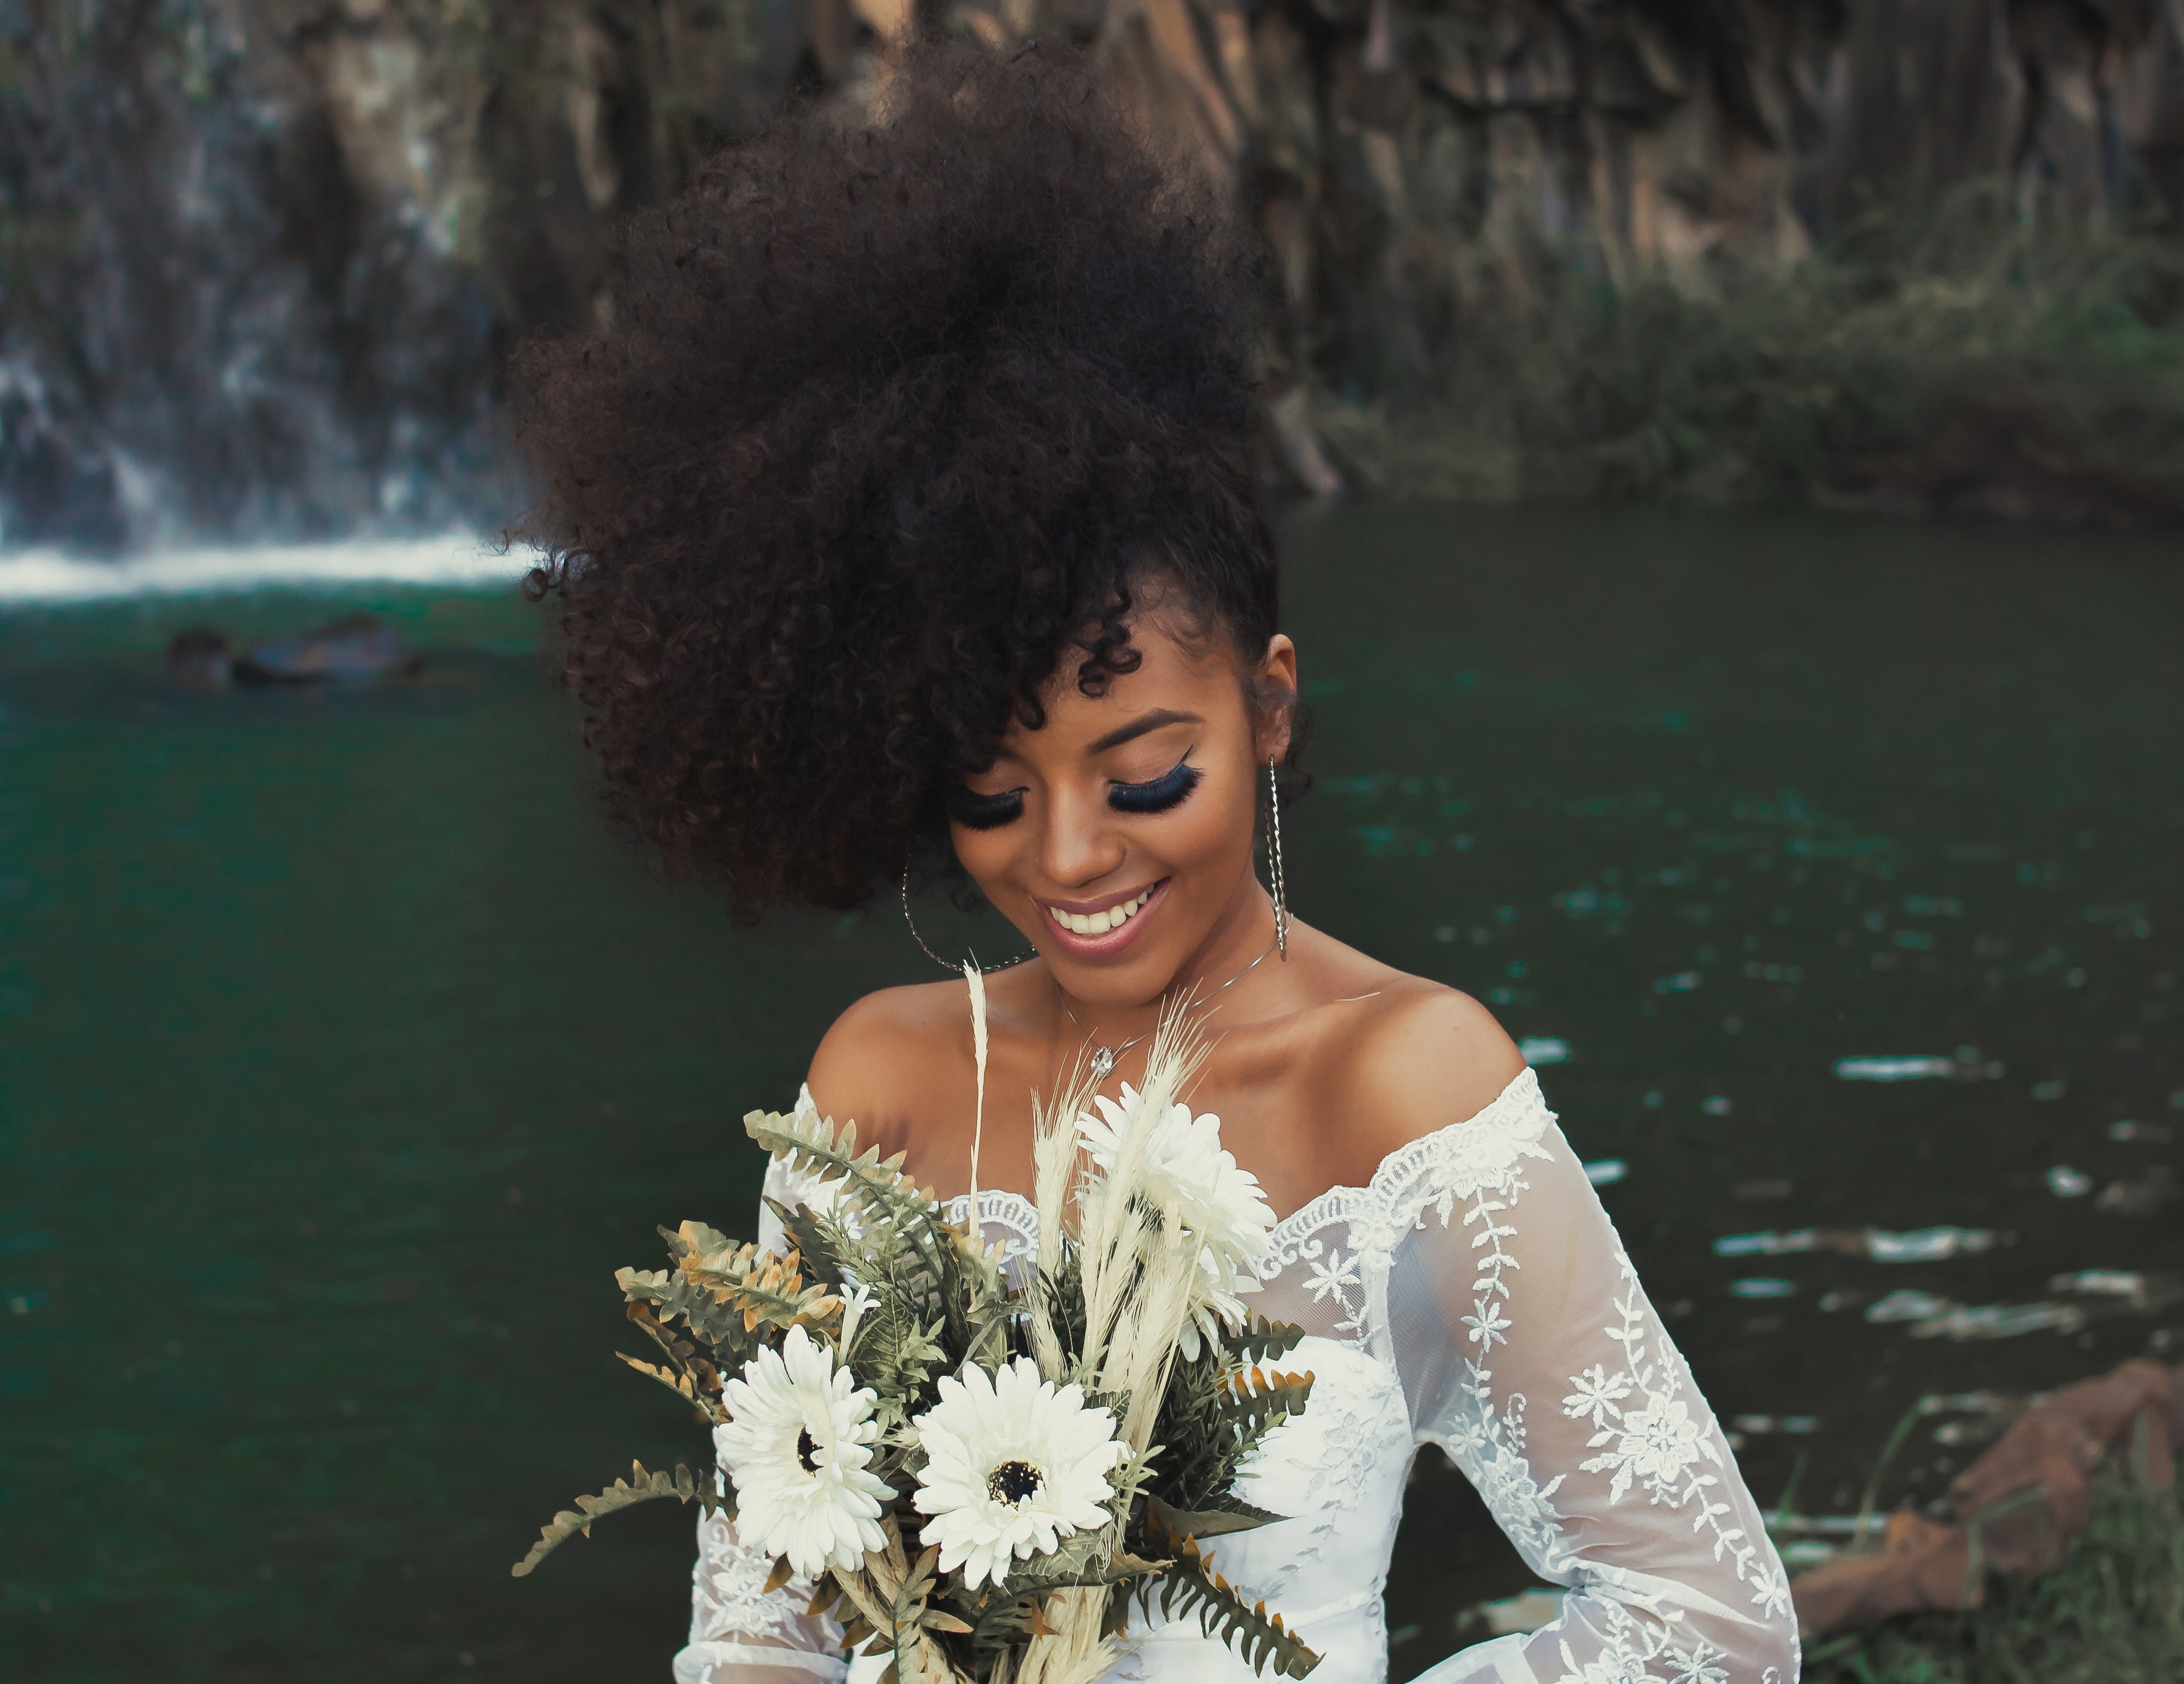
<instances>
[{"instance_id":1,"label":"fully open white gerbera with dark centre, right of the lower two","mask_svg":"<svg viewBox=\"0 0 2184 1684\"><path fill-rule=\"evenodd\" d=\"M941 1400L913 1424L928 1461L911 1501L935 1516L926 1542L941 1546L941 1573L1000 1584L1011 1557L1107 1522L1107 1470L1123 1459L1114 1415L1085 1409L1083 1387L1042 1380L1029 1356L992 1378L976 1363L941 1376Z\"/></svg>"}]
</instances>

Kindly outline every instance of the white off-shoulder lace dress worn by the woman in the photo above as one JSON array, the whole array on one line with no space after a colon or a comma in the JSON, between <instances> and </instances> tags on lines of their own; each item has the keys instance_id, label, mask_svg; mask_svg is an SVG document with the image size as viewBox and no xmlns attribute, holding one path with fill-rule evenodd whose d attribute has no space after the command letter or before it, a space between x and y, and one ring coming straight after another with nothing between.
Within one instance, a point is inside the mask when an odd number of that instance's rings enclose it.
<instances>
[{"instance_id":1,"label":"white off-shoulder lace dress worn by the woman","mask_svg":"<svg viewBox=\"0 0 2184 1684\"><path fill-rule=\"evenodd\" d=\"M773 1197L812 1188L773 1164ZM987 1234L1035 1247L1035 1212L981 1193ZM957 1201L954 1214L968 1210ZM762 1238L780 1243L771 1212ZM1437 1444L1562 1616L1424 1673L1431 1684L1791 1684L1797 1623L1758 1505L1531 1070L1479 1116L1391 1153L1372 1186L1319 1195L1273 1230L1254 1311L1308 1337L1284 1367L1310 1407L1275 1428L1247 1496L1289 1520L1216 1540L1214 1566L1321 1653L1313 1684L1385 1684L1382 1588L1411 1459ZM762 1594L771 1562L699 1522L690 1647L677 1684L799 1667L869 1684L804 1608ZM1114 1677L1245 1684L1197 1623L1133 1625Z\"/></svg>"}]
</instances>

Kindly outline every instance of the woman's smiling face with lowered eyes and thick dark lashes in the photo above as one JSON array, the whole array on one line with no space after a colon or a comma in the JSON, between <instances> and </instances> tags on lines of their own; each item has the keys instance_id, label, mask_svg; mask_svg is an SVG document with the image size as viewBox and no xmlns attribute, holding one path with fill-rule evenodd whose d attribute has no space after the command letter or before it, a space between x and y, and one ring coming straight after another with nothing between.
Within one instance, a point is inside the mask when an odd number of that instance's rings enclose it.
<instances>
[{"instance_id":1,"label":"woman's smiling face with lowered eyes and thick dark lashes","mask_svg":"<svg viewBox=\"0 0 2184 1684\"><path fill-rule=\"evenodd\" d=\"M963 869L1096 1005L1149 1003L1260 924L1271 939L1251 832L1289 721L1256 719L1245 681L1297 681L1289 638L1243 668L1225 636L1177 636L1158 607L1131 622L1131 647L1138 668L1096 697L1064 660L1046 723L1016 725L950 799Z\"/></svg>"}]
</instances>

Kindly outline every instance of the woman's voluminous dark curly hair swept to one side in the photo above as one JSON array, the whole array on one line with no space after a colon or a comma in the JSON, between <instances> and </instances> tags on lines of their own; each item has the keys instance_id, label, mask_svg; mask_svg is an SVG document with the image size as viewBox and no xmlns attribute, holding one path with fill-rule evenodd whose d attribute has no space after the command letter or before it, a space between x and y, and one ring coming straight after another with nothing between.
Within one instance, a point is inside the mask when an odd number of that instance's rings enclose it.
<instances>
[{"instance_id":1,"label":"woman's voluminous dark curly hair swept to one side","mask_svg":"<svg viewBox=\"0 0 2184 1684\"><path fill-rule=\"evenodd\" d=\"M612 325L520 352L607 808L743 915L952 863L946 786L1070 655L1131 671L1155 577L1275 631L1245 247L1042 57L924 41L869 124L784 111L627 225Z\"/></svg>"}]
</instances>

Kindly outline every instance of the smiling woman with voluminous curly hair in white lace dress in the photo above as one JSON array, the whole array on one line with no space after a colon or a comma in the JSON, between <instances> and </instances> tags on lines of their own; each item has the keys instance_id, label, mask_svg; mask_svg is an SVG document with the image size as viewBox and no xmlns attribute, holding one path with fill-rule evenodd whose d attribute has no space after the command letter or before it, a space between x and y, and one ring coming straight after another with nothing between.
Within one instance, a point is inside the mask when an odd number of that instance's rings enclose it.
<instances>
[{"instance_id":1,"label":"smiling woman with voluminous curly hair in white lace dress","mask_svg":"<svg viewBox=\"0 0 2184 1684\"><path fill-rule=\"evenodd\" d=\"M1385 1680L1431 1442L1572 1592L1435 1677L1787 1684L1758 1509L1518 1051L1289 917L1278 843L1271 893L1254 869L1302 730L1221 218L1068 66L926 48L891 76L874 129L791 114L640 218L618 321L529 354L537 583L612 808L743 911L909 915L937 867L1024 937L985 954L976 1164L1018 1249L1031 1094L1088 1051L1118 1092L1197 1003L1195 1105L1284 1212L1254 1308L1306 1328L1317 1376L1256 1474L1291 1518L1214 1557L1319 1680ZM972 1186L961 979L858 1000L808 1086L922 1184ZM732 1525L701 1546L684 1684L878 1671ZM1247 1677L1197 1625L1136 1636L1125 1677Z\"/></svg>"}]
</instances>

